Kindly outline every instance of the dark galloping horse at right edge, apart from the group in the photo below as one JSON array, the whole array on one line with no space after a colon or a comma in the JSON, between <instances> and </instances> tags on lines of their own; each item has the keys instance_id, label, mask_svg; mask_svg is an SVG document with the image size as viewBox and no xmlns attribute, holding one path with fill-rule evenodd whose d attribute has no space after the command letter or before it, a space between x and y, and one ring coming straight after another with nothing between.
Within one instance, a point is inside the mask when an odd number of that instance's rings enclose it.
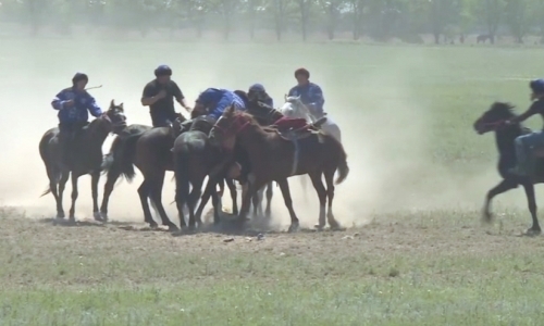
<instances>
[{"instance_id":1,"label":"dark galloping horse at right edge, apart from the group","mask_svg":"<svg viewBox=\"0 0 544 326\"><path fill-rule=\"evenodd\" d=\"M532 226L527 230L528 235L541 234L539 218L536 216L536 200L534 196L534 185L544 183L544 160L537 158L535 160L535 171L530 176L518 176L509 172L516 166L517 156L515 149L515 140L518 136L531 133L531 129L523 127L521 124L506 125L505 122L516 116L514 105L505 102L494 102L491 108L479 117L474 124L474 130L479 135L484 135L489 131L495 133L495 142L498 150L498 174L503 180L497 186L487 191L483 208L483 221L491 223L493 215L490 212L491 201L499 193L510 189L518 188L519 185L526 190L526 196L529 204L529 212L532 217Z\"/></svg>"}]
</instances>

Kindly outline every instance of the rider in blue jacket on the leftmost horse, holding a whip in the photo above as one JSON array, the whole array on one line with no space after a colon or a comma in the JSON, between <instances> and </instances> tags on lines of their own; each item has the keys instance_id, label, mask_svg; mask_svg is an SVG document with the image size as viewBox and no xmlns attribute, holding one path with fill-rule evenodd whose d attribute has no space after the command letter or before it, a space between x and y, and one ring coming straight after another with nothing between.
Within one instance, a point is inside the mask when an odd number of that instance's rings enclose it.
<instances>
[{"instance_id":1,"label":"rider in blue jacket on the leftmost horse, holding a whip","mask_svg":"<svg viewBox=\"0 0 544 326\"><path fill-rule=\"evenodd\" d=\"M73 143L79 130L88 124L90 114L98 117L102 110L96 103L95 98L86 90L85 86L89 77L83 73L76 73L72 78L72 87L61 90L52 100L51 105L59 110L59 145L64 164L70 165Z\"/></svg>"}]
</instances>

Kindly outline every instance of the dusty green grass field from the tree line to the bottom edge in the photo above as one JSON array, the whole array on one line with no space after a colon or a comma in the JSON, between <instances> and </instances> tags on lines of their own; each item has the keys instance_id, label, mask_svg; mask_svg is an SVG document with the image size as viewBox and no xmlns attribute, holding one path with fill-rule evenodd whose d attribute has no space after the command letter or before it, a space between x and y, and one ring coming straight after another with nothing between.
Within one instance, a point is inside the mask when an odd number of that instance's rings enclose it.
<instances>
[{"instance_id":1,"label":"dusty green grass field from the tree line to the bottom edge","mask_svg":"<svg viewBox=\"0 0 544 326\"><path fill-rule=\"evenodd\" d=\"M495 100L529 105L541 50L2 45L0 325L541 325L544 242L519 236L530 223L521 190L499 197L496 224L481 227L483 197L498 181L496 152L493 137L471 127ZM348 229L282 231L288 217L276 191L263 240L145 231L139 179L113 193L114 223L52 226L53 199L37 199L47 185L37 143L55 124L50 98L85 71L104 85L94 92L101 103L115 98L129 123L149 123L138 101L160 63L173 66L189 101L207 87L260 82L281 102L293 71L308 67L345 135L351 172L335 210ZM85 220L88 178L79 185ZM166 185L166 204L172 191ZM306 225L317 221L314 197L308 204L295 193Z\"/></svg>"}]
</instances>

